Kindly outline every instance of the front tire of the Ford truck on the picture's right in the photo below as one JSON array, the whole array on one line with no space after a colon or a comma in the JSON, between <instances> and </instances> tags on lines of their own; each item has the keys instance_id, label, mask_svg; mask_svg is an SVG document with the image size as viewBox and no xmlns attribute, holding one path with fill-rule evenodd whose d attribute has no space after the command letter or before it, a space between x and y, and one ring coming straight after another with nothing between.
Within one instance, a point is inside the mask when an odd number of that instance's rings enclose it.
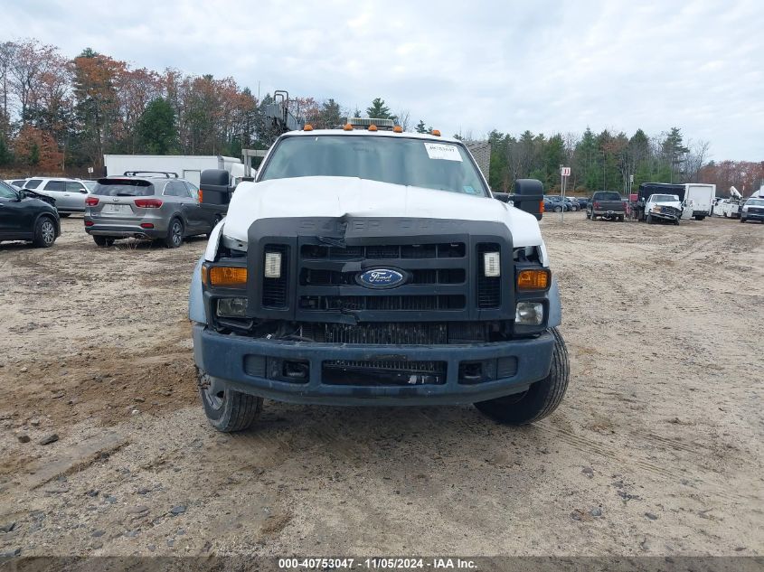
<instances>
[{"instance_id":1,"label":"front tire of the Ford truck on the picture's right","mask_svg":"<svg viewBox=\"0 0 764 572\"><path fill-rule=\"evenodd\" d=\"M503 398L479 401L475 407L499 423L507 425L527 425L547 417L560 405L571 377L568 349L557 328L551 329L554 336L552 367L543 380L536 381L521 394Z\"/></svg>"}]
</instances>

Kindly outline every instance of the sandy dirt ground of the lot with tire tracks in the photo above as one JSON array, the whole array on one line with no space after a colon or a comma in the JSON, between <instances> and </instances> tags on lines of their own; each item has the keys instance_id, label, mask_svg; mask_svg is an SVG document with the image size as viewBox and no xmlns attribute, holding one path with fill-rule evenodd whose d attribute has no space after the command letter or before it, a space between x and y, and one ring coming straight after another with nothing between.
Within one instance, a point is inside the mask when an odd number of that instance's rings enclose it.
<instances>
[{"instance_id":1,"label":"sandy dirt ground of the lot with tire tracks","mask_svg":"<svg viewBox=\"0 0 764 572\"><path fill-rule=\"evenodd\" d=\"M222 435L185 314L205 241L62 223L0 246L0 553L764 551L764 225L542 220L572 378L533 427L267 401Z\"/></svg>"}]
</instances>

